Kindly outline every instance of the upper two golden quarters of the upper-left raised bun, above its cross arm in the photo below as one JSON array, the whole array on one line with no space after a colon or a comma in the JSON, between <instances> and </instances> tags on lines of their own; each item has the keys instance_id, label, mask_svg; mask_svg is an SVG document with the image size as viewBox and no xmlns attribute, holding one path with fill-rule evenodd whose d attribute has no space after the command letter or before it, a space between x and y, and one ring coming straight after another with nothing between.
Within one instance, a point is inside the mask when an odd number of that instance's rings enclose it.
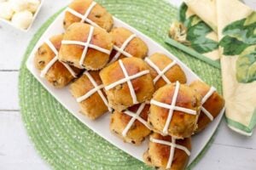
<instances>
[{"instance_id":1,"label":"upper two golden quarters of the upper-left raised bun, above its cross arm","mask_svg":"<svg viewBox=\"0 0 256 170\"><path fill-rule=\"evenodd\" d=\"M67 28L63 40L86 42L89 36L89 32L90 25L84 23L73 23L73 25ZM112 37L109 36L107 31L104 31L101 28L94 27L93 36L90 40L90 43L101 48L106 48L108 50L113 48ZM84 47L81 48L82 50L84 49Z\"/></svg>"}]
</instances>

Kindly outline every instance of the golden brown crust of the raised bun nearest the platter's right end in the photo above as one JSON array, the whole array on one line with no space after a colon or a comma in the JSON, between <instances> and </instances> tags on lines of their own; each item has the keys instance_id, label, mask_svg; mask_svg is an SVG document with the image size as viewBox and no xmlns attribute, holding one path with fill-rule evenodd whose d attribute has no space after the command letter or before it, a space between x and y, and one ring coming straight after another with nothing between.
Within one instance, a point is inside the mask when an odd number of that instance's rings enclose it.
<instances>
[{"instance_id":1,"label":"golden brown crust of the raised bun nearest the platter's right end","mask_svg":"<svg viewBox=\"0 0 256 170\"><path fill-rule=\"evenodd\" d=\"M159 88L155 92L153 99L160 103L171 105L176 86L176 83L172 83ZM174 110L172 112L172 119L167 124L167 132L165 133L177 139L188 138L196 129L196 120L201 108L201 96L195 90L189 88L189 86L180 84L175 105L195 111L195 114ZM150 106L148 122L154 127L153 130L155 132L164 133L163 130L166 126L169 111L169 109L158 105L152 104Z\"/></svg>"}]
</instances>

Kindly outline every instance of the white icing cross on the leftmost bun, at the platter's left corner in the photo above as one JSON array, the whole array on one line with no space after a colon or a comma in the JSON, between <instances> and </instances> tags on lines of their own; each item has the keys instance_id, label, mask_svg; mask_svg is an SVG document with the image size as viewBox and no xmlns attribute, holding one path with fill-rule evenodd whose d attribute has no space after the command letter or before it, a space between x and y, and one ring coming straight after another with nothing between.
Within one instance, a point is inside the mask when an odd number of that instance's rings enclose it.
<instances>
[{"instance_id":1,"label":"white icing cross on the leftmost bun, at the platter's left corner","mask_svg":"<svg viewBox=\"0 0 256 170\"><path fill-rule=\"evenodd\" d=\"M55 57L49 61L47 65L45 65L44 69L41 71L40 77L45 77L46 73L49 71L49 69L52 67L52 65L55 64L55 62L58 60L58 51L55 48L55 46L50 42L49 40L46 40L45 43L49 46L49 48L54 52ZM60 61L61 62L61 61ZM62 65L64 65L67 68L67 71L70 72L70 74L73 77L77 77L76 73L73 71L73 69L67 65L66 63L61 62Z\"/></svg>"}]
</instances>

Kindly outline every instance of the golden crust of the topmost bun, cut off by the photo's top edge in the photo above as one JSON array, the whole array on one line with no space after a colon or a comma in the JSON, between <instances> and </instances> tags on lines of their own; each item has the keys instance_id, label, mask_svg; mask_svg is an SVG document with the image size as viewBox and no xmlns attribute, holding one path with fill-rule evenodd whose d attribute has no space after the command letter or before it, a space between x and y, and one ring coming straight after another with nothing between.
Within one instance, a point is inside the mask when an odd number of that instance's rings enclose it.
<instances>
[{"instance_id":1,"label":"golden crust of the topmost bun, cut off by the photo's top edge","mask_svg":"<svg viewBox=\"0 0 256 170\"><path fill-rule=\"evenodd\" d=\"M72 8L79 14L84 15L92 2L92 0L73 0L73 2L68 5L68 7ZM95 22L98 26L102 27L106 31L110 31L113 26L112 15L109 14L108 11L98 3L96 3L94 8L90 10L90 14L87 18ZM80 22L80 20L81 19L79 17L76 17L73 14L67 12L64 19L65 29L67 29L68 26L75 22Z\"/></svg>"}]
</instances>

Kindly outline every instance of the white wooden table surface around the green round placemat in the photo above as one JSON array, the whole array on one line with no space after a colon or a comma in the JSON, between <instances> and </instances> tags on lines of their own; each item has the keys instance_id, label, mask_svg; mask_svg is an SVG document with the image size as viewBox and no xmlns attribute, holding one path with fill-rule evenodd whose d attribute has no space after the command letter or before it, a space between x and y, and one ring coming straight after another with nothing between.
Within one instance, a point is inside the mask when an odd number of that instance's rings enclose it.
<instances>
[{"instance_id":1,"label":"white wooden table surface around the green round placemat","mask_svg":"<svg viewBox=\"0 0 256 170\"><path fill-rule=\"evenodd\" d=\"M38 19L27 33L0 23L0 170L50 169L34 150L21 121L18 75L21 57L32 35L49 16L67 3L68 0L45 0ZM247 3L256 8L255 0L247 0ZM255 133L250 138L244 137L233 133L224 121L221 122L211 148L195 169L255 170Z\"/></svg>"}]
</instances>

